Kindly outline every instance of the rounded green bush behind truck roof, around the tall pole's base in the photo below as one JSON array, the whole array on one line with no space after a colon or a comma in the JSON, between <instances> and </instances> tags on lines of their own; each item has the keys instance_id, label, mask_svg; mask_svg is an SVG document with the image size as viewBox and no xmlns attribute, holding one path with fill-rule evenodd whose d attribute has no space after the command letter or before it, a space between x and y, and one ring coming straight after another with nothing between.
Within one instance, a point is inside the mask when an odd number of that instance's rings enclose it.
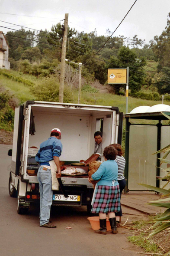
<instances>
[{"instance_id":1,"label":"rounded green bush behind truck roof, around the tall pole's base","mask_svg":"<svg viewBox=\"0 0 170 256\"><path fill-rule=\"evenodd\" d=\"M36 99L46 102L58 102L59 100L59 81L55 77L43 78L37 85L32 87L31 91ZM70 89L64 87L64 102L73 102Z\"/></svg>"}]
</instances>

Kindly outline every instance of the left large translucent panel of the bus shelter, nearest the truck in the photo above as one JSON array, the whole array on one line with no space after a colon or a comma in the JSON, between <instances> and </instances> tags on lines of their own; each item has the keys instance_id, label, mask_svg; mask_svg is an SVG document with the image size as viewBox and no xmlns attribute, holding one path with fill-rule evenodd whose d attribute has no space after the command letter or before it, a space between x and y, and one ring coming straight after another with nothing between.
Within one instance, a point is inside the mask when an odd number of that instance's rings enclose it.
<instances>
[{"instance_id":1,"label":"left large translucent panel of the bus shelter, nearest the truck","mask_svg":"<svg viewBox=\"0 0 170 256\"><path fill-rule=\"evenodd\" d=\"M131 125L129 136L128 189L145 190L138 183L156 187L157 126Z\"/></svg>"}]
</instances>

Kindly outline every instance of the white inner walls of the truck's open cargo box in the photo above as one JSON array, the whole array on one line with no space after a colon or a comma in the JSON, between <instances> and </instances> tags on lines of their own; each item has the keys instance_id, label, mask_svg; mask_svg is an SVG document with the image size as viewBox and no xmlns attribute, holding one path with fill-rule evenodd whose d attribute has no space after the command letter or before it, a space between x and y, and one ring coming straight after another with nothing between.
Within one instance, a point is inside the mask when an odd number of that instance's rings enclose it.
<instances>
[{"instance_id":1,"label":"white inner walls of the truck's open cargo box","mask_svg":"<svg viewBox=\"0 0 170 256\"><path fill-rule=\"evenodd\" d=\"M103 125L103 148L111 143L113 112L107 109L31 106L35 135L29 135L29 148L37 147L50 137L52 128L61 130L61 161L87 159L94 153L94 133ZM101 122L102 120L102 122Z\"/></svg>"}]
</instances>

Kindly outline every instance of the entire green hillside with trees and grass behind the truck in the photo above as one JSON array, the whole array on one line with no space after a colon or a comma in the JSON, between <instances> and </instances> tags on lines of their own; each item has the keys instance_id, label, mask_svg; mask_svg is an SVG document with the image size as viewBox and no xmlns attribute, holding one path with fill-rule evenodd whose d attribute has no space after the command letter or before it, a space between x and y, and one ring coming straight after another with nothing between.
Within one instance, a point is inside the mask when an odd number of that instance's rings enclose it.
<instances>
[{"instance_id":1,"label":"entire green hillside with trees and grass behind the truck","mask_svg":"<svg viewBox=\"0 0 170 256\"><path fill-rule=\"evenodd\" d=\"M114 105L125 113L125 84L108 85L107 70L128 66L128 112L159 104L162 95L169 105L169 18L149 44L137 35L110 37L109 29L98 36L96 30L84 33L68 27L66 58L71 62L65 69L64 102L77 103L79 72L72 62L82 62L82 104ZM6 39L11 70L0 69L0 129L12 131L16 105L32 99L58 102L63 27L57 23L51 31L37 32L21 28L7 32Z\"/></svg>"}]
</instances>

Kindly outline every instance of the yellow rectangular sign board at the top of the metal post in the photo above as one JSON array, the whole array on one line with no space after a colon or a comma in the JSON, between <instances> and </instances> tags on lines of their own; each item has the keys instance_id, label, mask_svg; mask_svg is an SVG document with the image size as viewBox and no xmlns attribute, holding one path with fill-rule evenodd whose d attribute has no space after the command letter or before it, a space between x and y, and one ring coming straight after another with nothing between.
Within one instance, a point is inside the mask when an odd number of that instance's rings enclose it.
<instances>
[{"instance_id":1,"label":"yellow rectangular sign board at the top of the metal post","mask_svg":"<svg viewBox=\"0 0 170 256\"><path fill-rule=\"evenodd\" d=\"M108 84L126 84L127 69L108 69Z\"/></svg>"}]
</instances>

